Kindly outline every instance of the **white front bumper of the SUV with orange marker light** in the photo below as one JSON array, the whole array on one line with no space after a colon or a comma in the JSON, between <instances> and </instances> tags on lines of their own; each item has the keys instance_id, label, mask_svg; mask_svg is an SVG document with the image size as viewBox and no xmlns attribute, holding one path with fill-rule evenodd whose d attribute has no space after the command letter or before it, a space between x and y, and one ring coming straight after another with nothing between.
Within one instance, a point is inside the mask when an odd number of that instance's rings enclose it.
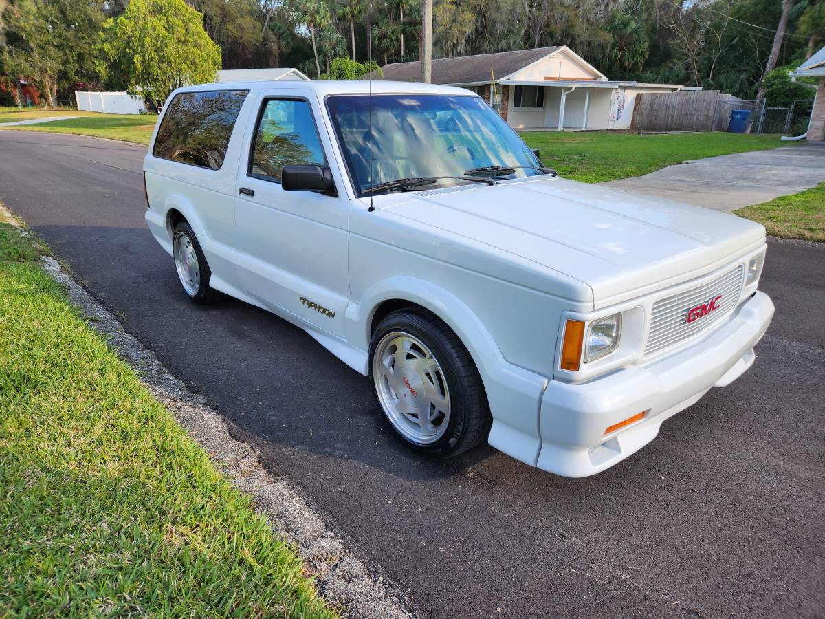
<instances>
[{"instance_id":1,"label":"white front bumper of the SUV with orange marker light","mask_svg":"<svg viewBox=\"0 0 825 619\"><path fill-rule=\"evenodd\" d=\"M572 385L551 380L541 401L537 466L585 477L615 465L651 442L662 422L694 404L711 387L736 380L756 358L774 305L757 292L724 325L695 345L647 366L633 366ZM606 435L637 413L644 417Z\"/></svg>"}]
</instances>

